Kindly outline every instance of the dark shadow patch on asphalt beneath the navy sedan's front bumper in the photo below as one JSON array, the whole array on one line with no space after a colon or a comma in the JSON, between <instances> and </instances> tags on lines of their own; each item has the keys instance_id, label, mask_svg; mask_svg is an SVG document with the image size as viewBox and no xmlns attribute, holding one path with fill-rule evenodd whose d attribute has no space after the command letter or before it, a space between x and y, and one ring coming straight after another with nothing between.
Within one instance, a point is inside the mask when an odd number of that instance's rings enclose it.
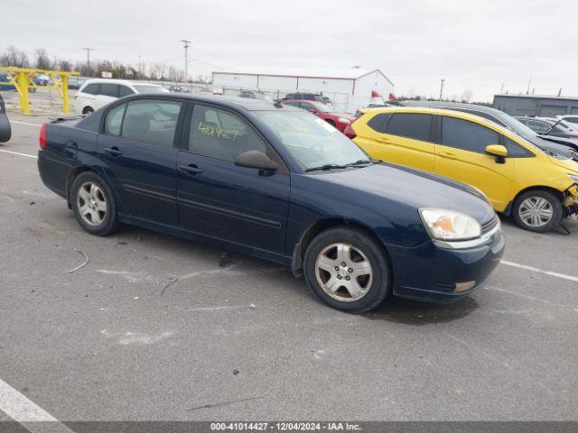
<instances>
[{"instance_id":1,"label":"dark shadow patch on asphalt beneath the navy sedan's front bumper","mask_svg":"<svg viewBox=\"0 0 578 433\"><path fill-rule=\"evenodd\" d=\"M377 309L363 314L371 320L387 320L404 325L424 326L452 322L465 318L480 308L474 298L460 299L451 304L432 304L390 296Z\"/></svg>"}]
</instances>

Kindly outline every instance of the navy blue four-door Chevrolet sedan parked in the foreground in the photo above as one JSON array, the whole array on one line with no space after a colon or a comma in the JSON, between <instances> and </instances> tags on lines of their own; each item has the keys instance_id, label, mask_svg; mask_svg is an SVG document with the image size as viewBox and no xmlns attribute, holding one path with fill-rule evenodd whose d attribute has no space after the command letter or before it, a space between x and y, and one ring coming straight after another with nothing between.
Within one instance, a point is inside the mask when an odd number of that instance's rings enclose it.
<instances>
[{"instance_id":1,"label":"navy blue four-door Chevrolet sedan parked in the foreground","mask_svg":"<svg viewBox=\"0 0 578 433\"><path fill-rule=\"evenodd\" d=\"M291 266L335 309L459 299L504 250L477 190L371 160L322 119L247 98L118 99L44 124L38 168L92 235L119 223Z\"/></svg>"}]
</instances>

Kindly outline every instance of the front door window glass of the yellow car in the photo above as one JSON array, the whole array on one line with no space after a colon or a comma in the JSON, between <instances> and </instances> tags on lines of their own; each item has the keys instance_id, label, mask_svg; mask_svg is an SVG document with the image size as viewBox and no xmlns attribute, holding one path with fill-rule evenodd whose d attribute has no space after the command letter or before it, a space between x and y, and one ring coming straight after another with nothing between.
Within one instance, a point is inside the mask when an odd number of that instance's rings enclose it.
<instances>
[{"instance_id":1,"label":"front door window glass of the yellow car","mask_svg":"<svg viewBox=\"0 0 578 433\"><path fill-rule=\"evenodd\" d=\"M499 134L481 124L444 115L442 144L462 151L486 153L486 146L499 144Z\"/></svg>"}]
</instances>

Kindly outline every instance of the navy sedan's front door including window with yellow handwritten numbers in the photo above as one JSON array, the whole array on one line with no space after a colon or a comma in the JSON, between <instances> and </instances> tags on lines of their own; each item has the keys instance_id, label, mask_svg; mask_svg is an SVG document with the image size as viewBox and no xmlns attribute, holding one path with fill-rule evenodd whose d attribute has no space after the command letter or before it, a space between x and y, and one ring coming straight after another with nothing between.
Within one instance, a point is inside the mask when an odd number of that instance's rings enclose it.
<instances>
[{"instance_id":1,"label":"navy sedan's front door including window with yellow handwritten numbers","mask_svg":"<svg viewBox=\"0 0 578 433\"><path fill-rule=\"evenodd\" d=\"M228 110L194 106L189 130L177 161L182 226L283 254L289 203L283 161L247 120ZM247 151L266 153L280 170L265 173L235 165L238 155Z\"/></svg>"}]
</instances>

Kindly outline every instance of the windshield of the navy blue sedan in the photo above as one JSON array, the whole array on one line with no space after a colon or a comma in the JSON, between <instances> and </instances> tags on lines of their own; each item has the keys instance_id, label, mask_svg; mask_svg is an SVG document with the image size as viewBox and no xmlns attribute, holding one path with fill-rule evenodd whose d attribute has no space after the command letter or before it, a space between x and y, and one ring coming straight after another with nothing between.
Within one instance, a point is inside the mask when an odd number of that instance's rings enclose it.
<instances>
[{"instance_id":1,"label":"windshield of the navy blue sedan","mask_svg":"<svg viewBox=\"0 0 578 433\"><path fill-rule=\"evenodd\" d=\"M294 111L264 111L256 115L303 170L339 168L370 161L356 143L319 117Z\"/></svg>"}]
</instances>

